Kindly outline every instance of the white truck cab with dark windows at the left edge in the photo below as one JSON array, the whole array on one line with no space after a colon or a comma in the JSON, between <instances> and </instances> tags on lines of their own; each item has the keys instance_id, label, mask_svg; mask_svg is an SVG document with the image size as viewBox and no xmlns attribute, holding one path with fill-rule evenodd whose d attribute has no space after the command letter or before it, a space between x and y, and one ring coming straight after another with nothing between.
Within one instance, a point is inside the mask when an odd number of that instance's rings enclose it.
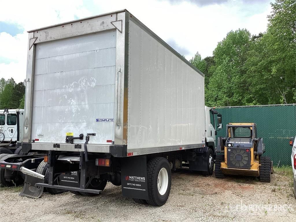
<instances>
[{"instance_id":1,"label":"white truck cab with dark windows at the left edge","mask_svg":"<svg viewBox=\"0 0 296 222\"><path fill-rule=\"evenodd\" d=\"M0 142L4 144L17 144L22 142L24 127L23 109L0 110Z\"/></svg>"}]
</instances>

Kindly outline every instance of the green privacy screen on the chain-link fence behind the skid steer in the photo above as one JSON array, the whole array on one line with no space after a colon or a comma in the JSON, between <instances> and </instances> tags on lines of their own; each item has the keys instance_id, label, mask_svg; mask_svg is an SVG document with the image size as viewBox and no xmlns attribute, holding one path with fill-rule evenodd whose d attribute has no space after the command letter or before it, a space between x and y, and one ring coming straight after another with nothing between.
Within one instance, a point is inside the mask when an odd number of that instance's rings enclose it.
<instances>
[{"instance_id":1,"label":"green privacy screen on the chain-link fence behind the skid steer","mask_svg":"<svg viewBox=\"0 0 296 222\"><path fill-rule=\"evenodd\" d=\"M217 136L226 136L228 123L256 123L257 136L263 138L264 156L271 157L274 165L291 165L290 137L296 134L296 104L216 107L222 114L223 128Z\"/></svg>"}]
</instances>

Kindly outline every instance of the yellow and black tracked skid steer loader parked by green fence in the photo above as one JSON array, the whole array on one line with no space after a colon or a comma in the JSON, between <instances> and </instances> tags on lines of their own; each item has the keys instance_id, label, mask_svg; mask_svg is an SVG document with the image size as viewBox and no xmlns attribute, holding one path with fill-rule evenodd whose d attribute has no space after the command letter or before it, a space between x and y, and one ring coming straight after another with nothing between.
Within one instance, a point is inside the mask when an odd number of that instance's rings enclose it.
<instances>
[{"instance_id":1,"label":"yellow and black tracked skid steer loader parked by green fence","mask_svg":"<svg viewBox=\"0 0 296 222\"><path fill-rule=\"evenodd\" d=\"M270 157L265 152L263 139L257 137L256 123L229 123L227 137L218 138L215 176L226 174L256 176L270 182L273 171Z\"/></svg>"}]
</instances>

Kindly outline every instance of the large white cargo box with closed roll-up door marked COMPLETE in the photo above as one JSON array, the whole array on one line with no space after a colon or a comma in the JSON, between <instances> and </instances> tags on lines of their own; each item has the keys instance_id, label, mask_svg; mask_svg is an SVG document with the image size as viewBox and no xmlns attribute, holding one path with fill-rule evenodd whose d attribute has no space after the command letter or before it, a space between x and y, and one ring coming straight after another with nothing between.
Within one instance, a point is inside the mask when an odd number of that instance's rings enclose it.
<instances>
[{"instance_id":1,"label":"large white cargo box with closed roll-up door marked COMPLETE","mask_svg":"<svg viewBox=\"0 0 296 222\"><path fill-rule=\"evenodd\" d=\"M165 25L165 24L164 24ZM127 10L29 31L23 149L130 156L205 144L204 76Z\"/></svg>"}]
</instances>

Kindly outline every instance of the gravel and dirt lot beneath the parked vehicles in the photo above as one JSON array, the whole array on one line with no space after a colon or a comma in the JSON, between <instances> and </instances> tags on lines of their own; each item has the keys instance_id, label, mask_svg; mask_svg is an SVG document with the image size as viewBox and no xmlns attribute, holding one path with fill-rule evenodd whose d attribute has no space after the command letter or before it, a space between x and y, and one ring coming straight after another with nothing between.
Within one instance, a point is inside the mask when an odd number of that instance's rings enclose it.
<instances>
[{"instance_id":1,"label":"gravel and dirt lot beneath the parked vehicles","mask_svg":"<svg viewBox=\"0 0 296 222\"><path fill-rule=\"evenodd\" d=\"M216 179L182 170L173 173L168 202L152 207L122 197L107 184L97 197L44 193L18 196L22 187L0 189L1 221L296 221L290 168L278 169L271 183L256 178Z\"/></svg>"}]
</instances>

